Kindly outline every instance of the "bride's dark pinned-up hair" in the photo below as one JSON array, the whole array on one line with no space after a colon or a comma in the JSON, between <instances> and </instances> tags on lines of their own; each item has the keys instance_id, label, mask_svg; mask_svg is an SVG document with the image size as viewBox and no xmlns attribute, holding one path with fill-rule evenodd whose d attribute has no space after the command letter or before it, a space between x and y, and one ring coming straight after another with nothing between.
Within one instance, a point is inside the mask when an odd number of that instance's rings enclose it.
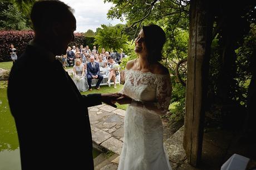
<instances>
[{"instance_id":1,"label":"bride's dark pinned-up hair","mask_svg":"<svg viewBox=\"0 0 256 170\"><path fill-rule=\"evenodd\" d=\"M164 30L155 25L142 26L145 35L145 44L148 52L147 61L155 63L162 59L162 49L166 41Z\"/></svg>"}]
</instances>

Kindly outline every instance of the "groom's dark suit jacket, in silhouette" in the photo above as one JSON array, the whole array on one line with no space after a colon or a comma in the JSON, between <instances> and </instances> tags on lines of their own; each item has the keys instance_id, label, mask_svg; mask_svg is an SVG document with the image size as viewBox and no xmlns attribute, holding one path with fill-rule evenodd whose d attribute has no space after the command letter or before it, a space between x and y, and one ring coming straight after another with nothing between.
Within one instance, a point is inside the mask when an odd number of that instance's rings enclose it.
<instances>
[{"instance_id":1,"label":"groom's dark suit jacket, in silhouette","mask_svg":"<svg viewBox=\"0 0 256 170\"><path fill-rule=\"evenodd\" d=\"M101 104L101 94L81 95L62 64L41 50L28 45L9 76L22 169L93 169L87 107Z\"/></svg>"}]
</instances>

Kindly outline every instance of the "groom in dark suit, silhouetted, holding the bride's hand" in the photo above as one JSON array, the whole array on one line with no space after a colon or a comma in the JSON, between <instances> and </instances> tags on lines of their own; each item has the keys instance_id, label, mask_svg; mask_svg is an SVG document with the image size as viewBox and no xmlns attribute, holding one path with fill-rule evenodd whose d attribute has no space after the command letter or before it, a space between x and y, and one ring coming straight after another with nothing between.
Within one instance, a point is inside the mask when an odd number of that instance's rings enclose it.
<instances>
[{"instance_id":1,"label":"groom in dark suit, silhouetted, holding the bride's hand","mask_svg":"<svg viewBox=\"0 0 256 170\"><path fill-rule=\"evenodd\" d=\"M60 1L35 2L31 11L35 38L9 76L8 101L24 170L93 169L87 107L102 102L115 106L112 101L120 97L81 95L56 60L74 40L76 19L71 11Z\"/></svg>"}]
</instances>

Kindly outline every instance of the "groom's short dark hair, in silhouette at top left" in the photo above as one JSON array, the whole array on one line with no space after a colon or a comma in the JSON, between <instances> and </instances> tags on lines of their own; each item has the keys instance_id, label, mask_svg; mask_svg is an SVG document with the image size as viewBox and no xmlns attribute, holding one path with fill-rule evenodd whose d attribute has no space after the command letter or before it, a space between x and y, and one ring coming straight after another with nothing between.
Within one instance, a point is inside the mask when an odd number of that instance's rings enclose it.
<instances>
[{"instance_id":1,"label":"groom's short dark hair, in silhouette at top left","mask_svg":"<svg viewBox=\"0 0 256 170\"><path fill-rule=\"evenodd\" d=\"M49 32L53 23L64 23L73 16L72 12L73 9L61 1L37 1L30 14L33 29L36 32Z\"/></svg>"}]
</instances>

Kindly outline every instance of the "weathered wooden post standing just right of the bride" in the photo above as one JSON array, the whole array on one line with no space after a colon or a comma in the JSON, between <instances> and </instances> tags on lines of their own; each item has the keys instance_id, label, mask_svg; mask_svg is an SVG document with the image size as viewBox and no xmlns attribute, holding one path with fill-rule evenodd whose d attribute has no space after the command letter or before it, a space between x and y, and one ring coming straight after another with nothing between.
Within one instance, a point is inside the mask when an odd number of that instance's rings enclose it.
<instances>
[{"instance_id":1,"label":"weathered wooden post standing just right of the bride","mask_svg":"<svg viewBox=\"0 0 256 170\"><path fill-rule=\"evenodd\" d=\"M201 159L212 29L210 1L191 0L183 146L192 166Z\"/></svg>"}]
</instances>

